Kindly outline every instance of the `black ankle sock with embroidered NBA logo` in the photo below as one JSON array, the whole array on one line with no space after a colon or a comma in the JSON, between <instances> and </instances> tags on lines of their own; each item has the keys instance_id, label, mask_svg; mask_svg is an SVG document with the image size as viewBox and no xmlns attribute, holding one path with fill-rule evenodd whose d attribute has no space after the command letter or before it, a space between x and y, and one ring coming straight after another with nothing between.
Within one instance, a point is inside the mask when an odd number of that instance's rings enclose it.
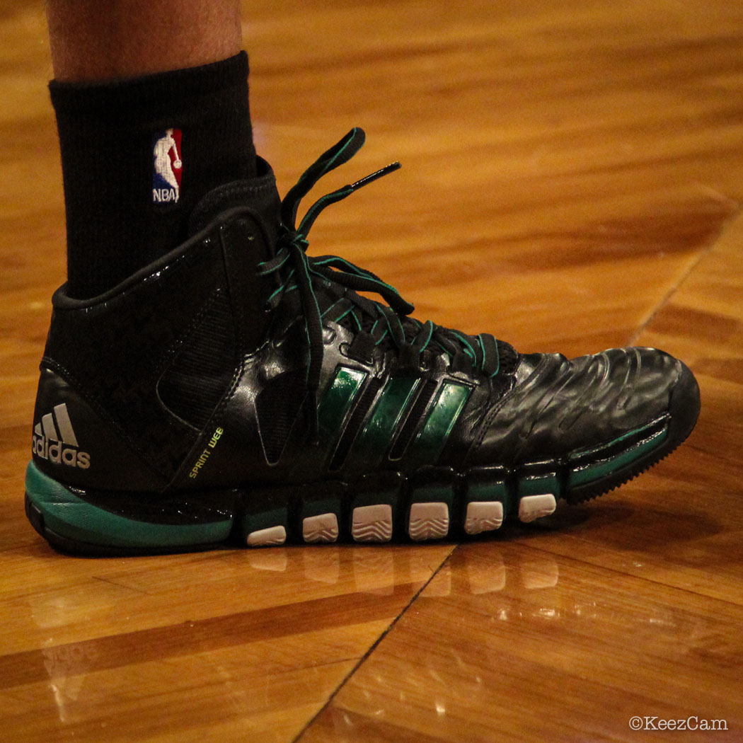
<instances>
[{"instance_id":1,"label":"black ankle sock with embroidered NBA logo","mask_svg":"<svg viewBox=\"0 0 743 743\"><path fill-rule=\"evenodd\" d=\"M96 296L186 238L215 186L256 175L247 54L112 82L57 82L68 294Z\"/></svg>"}]
</instances>

